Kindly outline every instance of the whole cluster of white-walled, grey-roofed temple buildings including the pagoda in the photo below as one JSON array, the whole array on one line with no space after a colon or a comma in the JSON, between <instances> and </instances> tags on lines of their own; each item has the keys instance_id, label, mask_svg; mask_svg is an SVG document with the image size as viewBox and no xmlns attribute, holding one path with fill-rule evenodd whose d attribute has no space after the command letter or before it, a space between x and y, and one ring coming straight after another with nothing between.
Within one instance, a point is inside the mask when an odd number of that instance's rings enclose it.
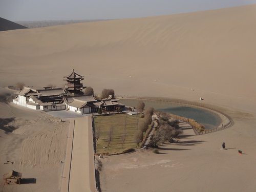
<instances>
[{"instance_id":1,"label":"whole cluster of white-walled, grey-roofed temple buildings including the pagoda","mask_svg":"<svg viewBox=\"0 0 256 192\"><path fill-rule=\"evenodd\" d=\"M73 72L64 77L68 83L65 88L44 87L44 89L32 89L24 87L16 92L17 97L13 102L34 110L58 111L69 110L79 114L102 113L124 109L124 105L117 102L118 99L108 98L97 100L93 94L84 95L83 76Z\"/></svg>"}]
</instances>

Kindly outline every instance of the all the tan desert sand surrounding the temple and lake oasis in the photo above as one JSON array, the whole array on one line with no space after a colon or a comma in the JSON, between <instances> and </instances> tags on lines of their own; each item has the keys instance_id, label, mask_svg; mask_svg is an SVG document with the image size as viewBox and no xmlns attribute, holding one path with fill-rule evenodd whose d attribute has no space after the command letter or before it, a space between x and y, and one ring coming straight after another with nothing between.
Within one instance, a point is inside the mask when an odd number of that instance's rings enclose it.
<instances>
[{"instance_id":1,"label":"all the tan desert sand surrounding the temple and lake oasis","mask_svg":"<svg viewBox=\"0 0 256 192\"><path fill-rule=\"evenodd\" d=\"M205 100L201 102L214 104L231 116L234 125L202 136L185 132L181 144L163 146L162 154L137 152L105 158L100 173L102 190L253 191L256 188L255 20L256 5L249 5L0 32L0 86L16 82L33 87L62 86L62 77L74 68L85 76L83 83L93 87L95 93L106 88L114 89L118 95L190 101L202 97ZM49 159L50 163L38 158L45 153L43 147L38 146L40 152L35 157L23 153L33 150L29 143L44 132L48 135L57 130L59 123L56 119L47 120L44 113L19 108L12 110L14 115L10 112L7 116L8 109L3 103L1 118L16 117L16 125L20 120L28 119L32 124L36 121L36 131L33 126L20 123L16 133L1 133L1 174L9 166L3 162L14 159L14 167L22 166L28 177L45 179L44 187L49 184L47 187L52 190L48 191L55 191L61 172L58 161L65 147L58 157ZM61 140L67 133L50 134L48 138ZM226 151L220 150L223 141L229 148ZM12 147L18 150L9 151L2 142L7 146L14 142ZM64 145L65 140L61 143ZM238 155L239 149L242 156ZM44 174L40 174L41 167ZM45 191L39 184L36 186L37 191Z\"/></svg>"}]
</instances>

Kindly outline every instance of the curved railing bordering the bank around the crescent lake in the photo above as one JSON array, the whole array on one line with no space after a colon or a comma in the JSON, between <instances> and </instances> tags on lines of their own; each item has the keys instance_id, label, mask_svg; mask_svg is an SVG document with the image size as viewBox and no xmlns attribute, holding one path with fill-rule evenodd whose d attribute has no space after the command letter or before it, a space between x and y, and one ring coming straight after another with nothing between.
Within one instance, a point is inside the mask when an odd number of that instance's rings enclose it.
<instances>
[{"instance_id":1,"label":"curved railing bordering the bank around the crescent lake","mask_svg":"<svg viewBox=\"0 0 256 192\"><path fill-rule=\"evenodd\" d=\"M226 124L222 124L221 126L217 126L213 129L204 130L202 132L199 132L192 124L189 123L188 118L182 118L183 121L186 121L188 124L191 125L196 135L203 135L208 134L220 130L227 129L228 127L231 127L234 125L234 121L231 117L229 117L227 114L215 109L213 106L205 105L203 103L193 102L193 101L186 101L182 99L170 99L170 98L158 98L158 97L136 97L136 96L129 96L129 95L116 95L116 97L119 98L132 98L132 99L139 99L139 100L149 100L149 101L158 101L158 102L170 102L170 103L176 103L182 106L196 106L197 108L203 108L215 113L219 113L223 115L225 118L228 119L228 122Z\"/></svg>"}]
</instances>

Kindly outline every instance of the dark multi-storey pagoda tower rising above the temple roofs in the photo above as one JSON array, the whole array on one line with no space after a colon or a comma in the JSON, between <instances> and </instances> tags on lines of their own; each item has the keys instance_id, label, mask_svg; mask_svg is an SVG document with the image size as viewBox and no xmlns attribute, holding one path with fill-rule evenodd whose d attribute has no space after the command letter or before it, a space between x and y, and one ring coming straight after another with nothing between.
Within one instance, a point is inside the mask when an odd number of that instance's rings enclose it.
<instances>
[{"instance_id":1,"label":"dark multi-storey pagoda tower rising above the temple roofs","mask_svg":"<svg viewBox=\"0 0 256 192\"><path fill-rule=\"evenodd\" d=\"M68 82L64 88L68 95L83 95L82 90L86 87L83 87L82 83L80 83L84 79L82 75L78 75L73 69L73 72L64 78L63 80Z\"/></svg>"}]
</instances>

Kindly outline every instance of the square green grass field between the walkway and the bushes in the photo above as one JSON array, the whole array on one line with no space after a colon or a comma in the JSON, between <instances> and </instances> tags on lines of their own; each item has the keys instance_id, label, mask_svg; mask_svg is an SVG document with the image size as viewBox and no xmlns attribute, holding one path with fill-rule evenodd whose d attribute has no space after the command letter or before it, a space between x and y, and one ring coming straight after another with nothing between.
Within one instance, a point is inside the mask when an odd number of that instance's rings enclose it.
<instances>
[{"instance_id":1,"label":"square green grass field between the walkway and the bushes","mask_svg":"<svg viewBox=\"0 0 256 192\"><path fill-rule=\"evenodd\" d=\"M121 136L124 133L124 122L125 118L126 125L126 139L122 148ZM144 118L140 118L138 115L138 120L144 121ZM122 153L127 148L135 148L136 143L134 142L134 134L137 132L137 117L136 115L127 114L116 114L108 116L97 116L94 117L95 130L100 130L100 136L96 146L97 154L116 154ZM110 127L113 127L113 139L111 141L109 148L103 148L108 146L108 133Z\"/></svg>"}]
</instances>

